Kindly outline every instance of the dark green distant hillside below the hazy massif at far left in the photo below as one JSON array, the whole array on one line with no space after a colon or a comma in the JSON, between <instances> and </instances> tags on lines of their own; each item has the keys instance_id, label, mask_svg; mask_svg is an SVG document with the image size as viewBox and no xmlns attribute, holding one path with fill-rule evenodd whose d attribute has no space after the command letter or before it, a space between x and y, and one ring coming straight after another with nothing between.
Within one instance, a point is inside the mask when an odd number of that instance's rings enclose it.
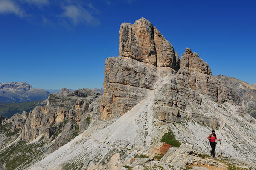
<instances>
[{"instance_id":1,"label":"dark green distant hillside below the hazy massif at far left","mask_svg":"<svg viewBox=\"0 0 256 170\"><path fill-rule=\"evenodd\" d=\"M12 117L15 113L22 113L23 111L30 112L35 106L43 100L36 100L32 102L22 103L0 103L0 116L7 118Z\"/></svg>"}]
</instances>

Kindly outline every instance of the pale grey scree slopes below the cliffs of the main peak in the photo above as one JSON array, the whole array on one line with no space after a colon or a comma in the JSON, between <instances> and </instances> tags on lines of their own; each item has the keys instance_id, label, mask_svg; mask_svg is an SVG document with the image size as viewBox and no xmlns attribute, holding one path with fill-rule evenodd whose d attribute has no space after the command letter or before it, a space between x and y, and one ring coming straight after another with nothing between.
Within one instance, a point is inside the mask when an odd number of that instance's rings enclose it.
<instances>
[{"instance_id":1,"label":"pale grey scree slopes below the cliffs of the main peak","mask_svg":"<svg viewBox=\"0 0 256 170\"><path fill-rule=\"evenodd\" d=\"M159 84L168 83L167 77L160 79ZM159 85L158 84L158 85ZM102 167L108 163L114 153L119 153L119 162L116 168L128 164L135 155L151 155L151 150L160 143L160 140L169 129L175 133L176 139L192 144L194 150L207 154L206 137L212 130L211 127L202 125L193 119L173 124L161 125L154 119L151 107L157 91L164 85L152 90L148 96L135 105L110 125L100 122L96 127L91 127L77 136L68 144L51 153L39 161L30 169L59 169L72 165L74 169L86 169L87 167ZM203 109L211 110L216 119L220 119L220 126L216 130L218 138L222 139L222 152L230 160L239 159L244 162L256 161L256 130L255 122L247 122L250 116L244 113L240 115L237 109L240 107L230 103L216 103L207 96L202 97ZM204 112L204 111L202 111ZM228 118L228 119L227 119ZM97 122L98 120L94 120ZM118 128L116 128L118 127ZM102 130L101 130L102 129ZM93 131L93 132L92 132ZM219 148L217 152L220 153ZM183 163L184 158L172 158L171 163ZM177 162L179 161L179 162ZM186 161L186 160L185 160ZM78 166L80 165L80 166ZM76 168L76 166L78 166ZM71 166L70 166L71 167ZM71 168L71 169L72 169Z\"/></svg>"}]
</instances>

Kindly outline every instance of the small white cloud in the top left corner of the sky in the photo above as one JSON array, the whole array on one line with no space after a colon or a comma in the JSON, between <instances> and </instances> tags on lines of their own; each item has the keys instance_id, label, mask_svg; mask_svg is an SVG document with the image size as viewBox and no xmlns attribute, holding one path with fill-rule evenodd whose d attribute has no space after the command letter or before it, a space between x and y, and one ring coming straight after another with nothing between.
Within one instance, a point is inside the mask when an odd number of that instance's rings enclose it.
<instances>
[{"instance_id":1,"label":"small white cloud in the top left corner of the sky","mask_svg":"<svg viewBox=\"0 0 256 170\"><path fill-rule=\"evenodd\" d=\"M23 17L26 13L11 0L0 0L0 14L16 14Z\"/></svg>"}]
</instances>

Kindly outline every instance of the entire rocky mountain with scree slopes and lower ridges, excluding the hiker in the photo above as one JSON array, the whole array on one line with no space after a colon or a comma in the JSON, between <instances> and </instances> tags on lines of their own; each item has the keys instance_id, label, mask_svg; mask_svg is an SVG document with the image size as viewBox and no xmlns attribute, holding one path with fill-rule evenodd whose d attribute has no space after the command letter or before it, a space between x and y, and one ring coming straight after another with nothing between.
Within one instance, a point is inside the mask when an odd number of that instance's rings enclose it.
<instances>
[{"instance_id":1,"label":"entire rocky mountain with scree slopes and lower ridges, excluding the hiker","mask_svg":"<svg viewBox=\"0 0 256 170\"><path fill-rule=\"evenodd\" d=\"M2 169L256 170L256 119L247 113L255 87L213 76L189 48L179 58L145 18L119 34L103 94L51 94L46 106L2 120ZM213 129L216 159L206 140Z\"/></svg>"}]
</instances>

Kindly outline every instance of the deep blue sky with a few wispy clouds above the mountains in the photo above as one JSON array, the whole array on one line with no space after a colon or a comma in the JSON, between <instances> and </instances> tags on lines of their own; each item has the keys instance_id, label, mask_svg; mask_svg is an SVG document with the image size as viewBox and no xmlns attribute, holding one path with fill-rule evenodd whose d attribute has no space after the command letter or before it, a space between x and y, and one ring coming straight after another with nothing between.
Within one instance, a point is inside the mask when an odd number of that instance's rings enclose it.
<instances>
[{"instance_id":1,"label":"deep blue sky with a few wispy clouds above the mountains","mask_svg":"<svg viewBox=\"0 0 256 170\"><path fill-rule=\"evenodd\" d=\"M254 0L0 0L0 82L101 88L120 24L141 17L179 55L197 52L212 74L256 83Z\"/></svg>"}]
</instances>

